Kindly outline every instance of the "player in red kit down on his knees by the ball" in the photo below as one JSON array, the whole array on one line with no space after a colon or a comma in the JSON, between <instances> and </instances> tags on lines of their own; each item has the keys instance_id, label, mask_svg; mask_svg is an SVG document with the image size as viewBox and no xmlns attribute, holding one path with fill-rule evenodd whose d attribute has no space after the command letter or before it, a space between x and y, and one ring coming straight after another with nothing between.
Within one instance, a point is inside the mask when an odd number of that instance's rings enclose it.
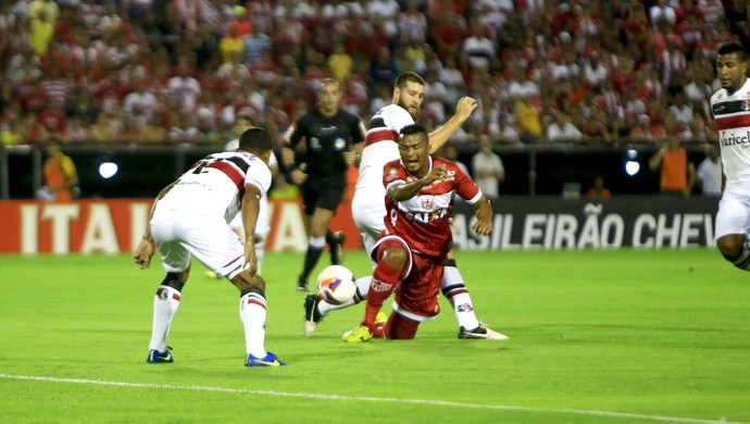
<instances>
[{"instance_id":1,"label":"player in red kit down on his knees by the ball","mask_svg":"<svg viewBox=\"0 0 750 424\"><path fill-rule=\"evenodd\" d=\"M492 229L489 200L453 162L429 155L429 137L423 126L403 127L398 145L401 159L384 167L386 229L371 252L377 266L364 320L343 335L346 341L366 341L373 336L412 339L421 322L438 314L440 280L453 246L450 216L454 194L474 205L477 222L473 229L478 235L487 236ZM388 322L376 324L393 290L396 302Z\"/></svg>"}]
</instances>

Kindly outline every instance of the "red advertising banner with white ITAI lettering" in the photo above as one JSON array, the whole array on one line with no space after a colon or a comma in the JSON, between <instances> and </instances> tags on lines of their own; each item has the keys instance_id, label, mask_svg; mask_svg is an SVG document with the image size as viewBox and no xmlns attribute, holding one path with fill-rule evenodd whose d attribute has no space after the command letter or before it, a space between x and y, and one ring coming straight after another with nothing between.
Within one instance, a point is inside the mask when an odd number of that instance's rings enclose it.
<instances>
[{"instance_id":1,"label":"red advertising banner with white ITAI lettering","mask_svg":"<svg viewBox=\"0 0 750 424\"><path fill-rule=\"evenodd\" d=\"M0 253L126 253L132 252L148 223L151 199L42 202L0 201ZM308 236L300 201L271 200L267 251L304 251ZM361 246L347 203L330 225L347 234L345 248Z\"/></svg>"}]
</instances>

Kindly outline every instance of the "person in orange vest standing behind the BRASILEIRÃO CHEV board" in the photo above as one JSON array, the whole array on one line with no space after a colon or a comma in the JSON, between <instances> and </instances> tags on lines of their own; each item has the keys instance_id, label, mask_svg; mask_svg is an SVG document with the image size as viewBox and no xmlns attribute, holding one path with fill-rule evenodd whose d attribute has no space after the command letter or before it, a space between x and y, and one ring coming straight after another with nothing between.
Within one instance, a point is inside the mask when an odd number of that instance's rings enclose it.
<instances>
[{"instance_id":1,"label":"person in orange vest standing behind the BRASILEIR\u00c3O CHEV board","mask_svg":"<svg viewBox=\"0 0 750 424\"><path fill-rule=\"evenodd\" d=\"M696 165L688 161L687 151L679 137L670 136L667 141L649 159L649 169L661 167L659 188L662 195L690 196L696 183Z\"/></svg>"}]
</instances>

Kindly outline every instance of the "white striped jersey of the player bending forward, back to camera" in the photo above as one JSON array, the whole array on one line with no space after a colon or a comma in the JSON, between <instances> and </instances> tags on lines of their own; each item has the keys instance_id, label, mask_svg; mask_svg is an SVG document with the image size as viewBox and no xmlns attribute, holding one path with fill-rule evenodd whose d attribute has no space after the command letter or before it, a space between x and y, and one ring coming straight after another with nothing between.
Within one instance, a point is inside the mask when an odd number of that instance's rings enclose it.
<instances>
[{"instance_id":1,"label":"white striped jersey of the player bending forward, back to camera","mask_svg":"<svg viewBox=\"0 0 750 424\"><path fill-rule=\"evenodd\" d=\"M271 187L271 171L262 159L240 151L213 153L183 174L160 204L184 203L191 209L223 213L228 223L241 208L246 184L254 185L261 194Z\"/></svg>"}]
</instances>

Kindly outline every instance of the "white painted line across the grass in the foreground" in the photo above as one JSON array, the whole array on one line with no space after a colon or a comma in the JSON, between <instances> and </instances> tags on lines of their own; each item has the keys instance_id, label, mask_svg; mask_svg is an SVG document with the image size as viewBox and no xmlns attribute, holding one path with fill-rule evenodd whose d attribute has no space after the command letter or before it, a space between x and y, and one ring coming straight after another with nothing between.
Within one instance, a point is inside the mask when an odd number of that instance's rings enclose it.
<instances>
[{"instance_id":1,"label":"white painted line across the grass in the foreground","mask_svg":"<svg viewBox=\"0 0 750 424\"><path fill-rule=\"evenodd\" d=\"M296 392L288 392L288 391L250 390L250 389L237 389L237 388L228 388L228 387L180 386L180 385L170 385L170 384L107 382L107 381L101 381L101 379L59 378L59 377L46 377L46 376L36 376L36 375L0 374L0 378L32 379L32 381L37 381L37 382L73 383L73 384L87 384L87 385L99 385L99 386L143 387L143 388L161 388L161 389L196 390L196 391L217 391L217 392L227 392L227 394L277 396L277 397L287 397L287 398L326 399L326 400L355 400L355 401L364 401L364 402L412 403L412 404L426 404L426 406L435 406L435 407L471 408L471 409L484 409L484 410L497 410L497 411L527 411L527 412L542 412L542 413L560 413L560 414L568 414L568 415L595 415L595 416L611 416L611 417L618 417L618 419L651 420L651 421L670 422L670 423L743 424L743 423L735 422L735 421L725 421L723 419L722 420L699 420L699 419L685 419L685 417L678 417L678 416L647 415L647 414L635 414L635 413L623 413L623 412L611 412L611 411L588 411L588 410L577 410L577 409L554 409L554 408L548 409L548 408L515 407L515 406L503 406L503 404L462 403L462 402L449 402L449 401L442 401L442 400L426 400L426 399L397 399L397 398L375 398L375 397L367 397L367 396L296 394Z\"/></svg>"}]
</instances>

